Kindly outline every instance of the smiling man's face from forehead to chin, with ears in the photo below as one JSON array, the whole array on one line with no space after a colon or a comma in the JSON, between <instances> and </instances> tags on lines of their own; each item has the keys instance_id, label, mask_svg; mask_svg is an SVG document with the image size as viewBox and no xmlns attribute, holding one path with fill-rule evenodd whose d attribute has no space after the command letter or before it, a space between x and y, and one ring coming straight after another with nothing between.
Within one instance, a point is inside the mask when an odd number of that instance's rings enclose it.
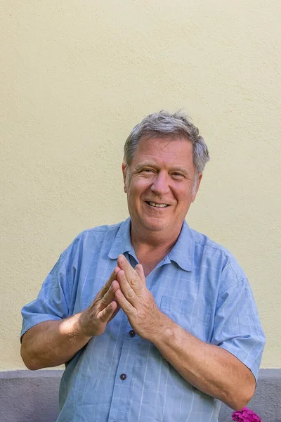
<instances>
[{"instance_id":1,"label":"smiling man's face from forehead to chin, with ears","mask_svg":"<svg viewBox=\"0 0 281 422\"><path fill-rule=\"evenodd\" d=\"M202 178L200 173L194 188L192 144L169 136L143 138L122 170L134 229L179 233Z\"/></svg>"}]
</instances>

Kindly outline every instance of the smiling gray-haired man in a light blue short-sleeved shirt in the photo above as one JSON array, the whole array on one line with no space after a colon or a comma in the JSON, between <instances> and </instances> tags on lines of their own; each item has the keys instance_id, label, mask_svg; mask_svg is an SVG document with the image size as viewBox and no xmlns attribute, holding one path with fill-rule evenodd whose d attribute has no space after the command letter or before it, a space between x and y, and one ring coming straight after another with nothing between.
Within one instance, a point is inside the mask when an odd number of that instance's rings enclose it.
<instances>
[{"instance_id":1,"label":"smiling gray-haired man in a light blue short-sleeved shirt","mask_svg":"<svg viewBox=\"0 0 281 422\"><path fill-rule=\"evenodd\" d=\"M212 422L254 394L264 335L247 278L185 222L208 160L185 115L145 117L124 147L131 218L77 236L22 309L27 367L66 366L59 422Z\"/></svg>"}]
</instances>

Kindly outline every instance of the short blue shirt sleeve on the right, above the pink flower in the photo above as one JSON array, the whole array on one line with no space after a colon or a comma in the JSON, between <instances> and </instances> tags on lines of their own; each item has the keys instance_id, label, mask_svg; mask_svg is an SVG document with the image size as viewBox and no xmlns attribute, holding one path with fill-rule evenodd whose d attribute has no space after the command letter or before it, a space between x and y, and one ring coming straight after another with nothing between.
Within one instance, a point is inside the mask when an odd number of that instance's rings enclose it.
<instances>
[{"instance_id":1,"label":"short blue shirt sleeve on the right, above the pink flower","mask_svg":"<svg viewBox=\"0 0 281 422\"><path fill-rule=\"evenodd\" d=\"M257 380L265 335L247 279L218 296L211 343L240 359Z\"/></svg>"}]
</instances>

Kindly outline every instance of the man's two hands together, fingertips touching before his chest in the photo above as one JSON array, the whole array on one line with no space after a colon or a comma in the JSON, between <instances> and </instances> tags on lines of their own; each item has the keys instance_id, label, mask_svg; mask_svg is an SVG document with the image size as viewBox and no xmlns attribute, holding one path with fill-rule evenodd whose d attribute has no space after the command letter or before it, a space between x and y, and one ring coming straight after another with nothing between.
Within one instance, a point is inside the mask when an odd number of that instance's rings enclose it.
<instances>
[{"instance_id":1,"label":"man's two hands together, fingertips touching before his chest","mask_svg":"<svg viewBox=\"0 0 281 422\"><path fill-rule=\"evenodd\" d=\"M81 312L82 331L89 337L103 334L107 323L120 308L128 316L133 330L141 337L152 340L159 332L163 314L146 287L143 267L137 264L133 269L124 255L119 255L117 267L90 307Z\"/></svg>"}]
</instances>

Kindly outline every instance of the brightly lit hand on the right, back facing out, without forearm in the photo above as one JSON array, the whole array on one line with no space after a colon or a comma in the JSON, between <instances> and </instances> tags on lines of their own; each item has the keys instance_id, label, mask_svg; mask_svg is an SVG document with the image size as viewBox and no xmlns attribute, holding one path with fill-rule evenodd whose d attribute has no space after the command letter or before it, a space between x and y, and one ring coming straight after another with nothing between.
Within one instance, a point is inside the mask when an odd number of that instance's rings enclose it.
<instances>
[{"instance_id":1,"label":"brightly lit hand on the right, back facing out, without forearm","mask_svg":"<svg viewBox=\"0 0 281 422\"><path fill-rule=\"evenodd\" d=\"M128 316L134 331L152 341L162 326L162 312L158 309L152 293L146 287L145 274L141 264L133 269L124 255L119 255L117 281L120 288L115 299Z\"/></svg>"}]
</instances>

